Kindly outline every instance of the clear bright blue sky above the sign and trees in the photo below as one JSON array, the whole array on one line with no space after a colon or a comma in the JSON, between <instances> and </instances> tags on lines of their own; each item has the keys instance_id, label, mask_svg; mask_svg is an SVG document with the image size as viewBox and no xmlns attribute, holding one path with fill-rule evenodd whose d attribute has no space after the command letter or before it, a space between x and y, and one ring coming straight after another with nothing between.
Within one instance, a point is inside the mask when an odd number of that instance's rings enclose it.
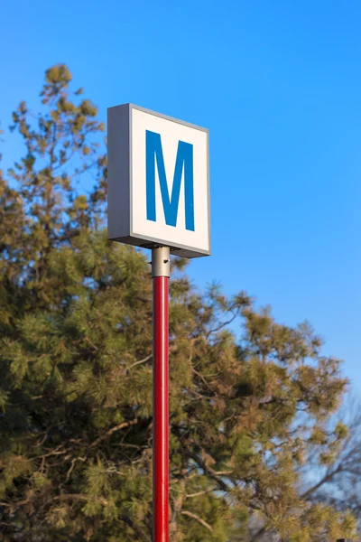
<instances>
[{"instance_id":1,"label":"clear bright blue sky above the sign and trees","mask_svg":"<svg viewBox=\"0 0 361 542\"><path fill-rule=\"evenodd\" d=\"M307 318L360 391L360 23L357 0L1 0L0 119L65 62L104 119L131 101L207 126L194 282ZM2 146L8 165L20 147Z\"/></svg>"}]
</instances>

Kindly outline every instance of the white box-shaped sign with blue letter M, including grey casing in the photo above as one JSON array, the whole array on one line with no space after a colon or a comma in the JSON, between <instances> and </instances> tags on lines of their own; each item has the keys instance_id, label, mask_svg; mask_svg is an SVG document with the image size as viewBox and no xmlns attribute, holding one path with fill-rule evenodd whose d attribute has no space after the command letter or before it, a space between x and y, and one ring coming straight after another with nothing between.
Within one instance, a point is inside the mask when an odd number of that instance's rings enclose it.
<instances>
[{"instance_id":1,"label":"white box-shaped sign with blue letter M, including grey casing","mask_svg":"<svg viewBox=\"0 0 361 542\"><path fill-rule=\"evenodd\" d=\"M108 238L210 254L208 130L133 104L107 110Z\"/></svg>"}]
</instances>

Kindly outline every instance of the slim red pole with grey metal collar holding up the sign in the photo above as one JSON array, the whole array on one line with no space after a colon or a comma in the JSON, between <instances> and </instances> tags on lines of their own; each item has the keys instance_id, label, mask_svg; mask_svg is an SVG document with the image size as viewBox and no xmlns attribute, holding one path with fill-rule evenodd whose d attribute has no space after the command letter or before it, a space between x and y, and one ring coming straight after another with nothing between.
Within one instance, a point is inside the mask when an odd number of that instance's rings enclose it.
<instances>
[{"instance_id":1,"label":"slim red pole with grey metal collar holding up the sign","mask_svg":"<svg viewBox=\"0 0 361 542\"><path fill-rule=\"evenodd\" d=\"M152 249L153 542L169 542L168 295L170 249Z\"/></svg>"}]
</instances>

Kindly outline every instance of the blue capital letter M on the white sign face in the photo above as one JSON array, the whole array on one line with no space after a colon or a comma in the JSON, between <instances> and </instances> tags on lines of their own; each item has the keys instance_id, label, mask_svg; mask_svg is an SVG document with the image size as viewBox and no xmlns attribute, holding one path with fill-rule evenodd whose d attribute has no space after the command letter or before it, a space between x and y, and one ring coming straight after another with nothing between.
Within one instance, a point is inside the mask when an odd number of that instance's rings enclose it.
<instances>
[{"instance_id":1,"label":"blue capital letter M on the white sign face","mask_svg":"<svg viewBox=\"0 0 361 542\"><path fill-rule=\"evenodd\" d=\"M161 185L162 204L165 223L177 226L178 207L180 203L181 173L184 168L184 202L186 229L194 231L194 200L193 200L193 145L180 141L171 187L171 197L168 190L167 177L162 153L161 135L146 130L146 208L147 220L156 219L155 210L155 161L158 167L159 183Z\"/></svg>"}]
</instances>

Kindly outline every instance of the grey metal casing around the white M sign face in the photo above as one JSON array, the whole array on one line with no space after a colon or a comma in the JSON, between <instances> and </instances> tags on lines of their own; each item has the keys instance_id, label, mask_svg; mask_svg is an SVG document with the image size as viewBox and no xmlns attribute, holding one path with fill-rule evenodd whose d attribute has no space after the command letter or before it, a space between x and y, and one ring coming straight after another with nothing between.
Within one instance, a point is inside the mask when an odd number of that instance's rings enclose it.
<instances>
[{"instance_id":1,"label":"grey metal casing around the white M sign face","mask_svg":"<svg viewBox=\"0 0 361 542\"><path fill-rule=\"evenodd\" d=\"M154 117L160 117L207 135L207 206L208 206L208 250L193 248L178 242L162 238L154 238L134 233L133 227L133 140L132 140L132 113L138 110ZM171 254L179 257L210 256L210 182L209 182L209 130L185 122L178 118L168 117L151 109L127 103L107 109L107 221L108 238L113 241L134 245L141 248L169 247ZM121 202L121 205L119 205Z\"/></svg>"}]
</instances>

